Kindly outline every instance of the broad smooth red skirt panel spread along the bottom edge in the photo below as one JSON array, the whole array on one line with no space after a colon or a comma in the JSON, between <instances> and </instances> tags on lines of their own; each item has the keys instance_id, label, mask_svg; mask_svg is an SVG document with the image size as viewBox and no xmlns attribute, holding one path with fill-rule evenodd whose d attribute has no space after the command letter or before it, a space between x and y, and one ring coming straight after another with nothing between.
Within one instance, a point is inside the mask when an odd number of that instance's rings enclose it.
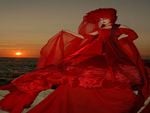
<instances>
[{"instance_id":1,"label":"broad smooth red skirt panel spread along the bottom edge","mask_svg":"<svg viewBox=\"0 0 150 113\"><path fill-rule=\"evenodd\" d=\"M62 85L28 113L129 113L134 99L128 88Z\"/></svg>"}]
</instances>

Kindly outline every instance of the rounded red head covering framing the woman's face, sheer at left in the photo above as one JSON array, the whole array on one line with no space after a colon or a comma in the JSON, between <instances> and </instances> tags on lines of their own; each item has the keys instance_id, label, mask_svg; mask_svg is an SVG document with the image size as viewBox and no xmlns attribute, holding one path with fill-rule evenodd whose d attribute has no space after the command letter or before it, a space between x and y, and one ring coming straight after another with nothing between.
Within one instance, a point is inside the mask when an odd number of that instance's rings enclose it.
<instances>
[{"instance_id":1,"label":"rounded red head covering framing the woman's face, sheer at left","mask_svg":"<svg viewBox=\"0 0 150 113\"><path fill-rule=\"evenodd\" d=\"M88 12L78 28L79 34L85 35L97 30L100 18L109 18L114 24L117 19L116 13L117 11L113 8L99 8Z\"/></svg>"}]
</instances>

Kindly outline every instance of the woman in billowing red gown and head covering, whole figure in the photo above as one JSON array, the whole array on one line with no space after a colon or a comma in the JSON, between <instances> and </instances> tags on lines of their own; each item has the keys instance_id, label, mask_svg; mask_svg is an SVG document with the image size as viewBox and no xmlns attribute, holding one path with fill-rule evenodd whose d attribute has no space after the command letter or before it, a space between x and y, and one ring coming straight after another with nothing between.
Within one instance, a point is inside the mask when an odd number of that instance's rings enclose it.
<instances>
[{"instance_id":1,"label":"woman in billowing red gown and head covering, whole figure","mask_svg":"<svg viewBox=\"0 0 150 113\"><path fill-rule=\"evenodd\" d=\"M115 9L100 8L84 16L80 35L61 31L52 37L37 69L7 87L11 93L1 108L20 113L40 91L58 85L28 113L136 113L149 95L148 74L133 44L137 34L116 19ZM25 99L20 104L14 97Z\"/></svg>"}]
</instances>

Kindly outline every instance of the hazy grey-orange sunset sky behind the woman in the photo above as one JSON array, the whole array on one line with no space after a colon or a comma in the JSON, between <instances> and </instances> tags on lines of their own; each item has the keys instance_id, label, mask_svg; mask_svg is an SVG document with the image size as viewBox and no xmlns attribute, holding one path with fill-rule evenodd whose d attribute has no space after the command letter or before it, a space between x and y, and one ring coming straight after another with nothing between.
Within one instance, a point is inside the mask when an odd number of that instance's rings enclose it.
<instances>
[{"instance_id":1,"label":"hazy grey-orange sunset sky behind the woman","mask_svg":"<svg viewBox=\"0 0 150 113\"><path fill-rule=\"evenodd\" d=\"M137 32L141 56L150 58L150 0L0 0L0 57L39 57L60 30L77 33L82 17L97 8L117 9L117 23Z\"/></svg>"}]
</instances>

